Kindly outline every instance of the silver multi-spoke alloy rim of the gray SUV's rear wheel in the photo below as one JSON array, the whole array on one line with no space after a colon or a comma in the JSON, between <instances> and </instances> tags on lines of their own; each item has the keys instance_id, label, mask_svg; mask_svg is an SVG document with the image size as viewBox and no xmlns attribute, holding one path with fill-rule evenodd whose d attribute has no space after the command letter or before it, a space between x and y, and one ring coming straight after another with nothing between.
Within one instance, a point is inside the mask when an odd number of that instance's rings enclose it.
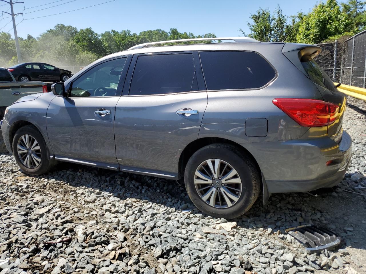
<instances>
[{"instance_id":1,"label":"silver multi-spoke alloy rim of the gray SUV's rear wheel","mask_svg":"<svg viewBox=\"0 0 366 274\"><path fill-rule=\"evenodd\" d=\"M238 172L226 161L209 159L194 174L194 184L201 199L214 208L229 208L238 202L242 181Z\"/></svg>"}]
</instances>

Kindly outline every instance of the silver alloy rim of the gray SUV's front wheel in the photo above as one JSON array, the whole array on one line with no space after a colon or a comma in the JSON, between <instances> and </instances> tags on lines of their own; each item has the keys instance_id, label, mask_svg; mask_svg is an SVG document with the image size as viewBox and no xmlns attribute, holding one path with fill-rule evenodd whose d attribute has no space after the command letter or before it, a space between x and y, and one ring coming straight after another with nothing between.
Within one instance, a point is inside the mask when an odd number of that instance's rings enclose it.
<instances>
[{"instance_id":1,"label":"silver alloy rim of the gray SUV's front wheel","mask_svg":"<svg viewBox=\"0 0 366 274\"><path fill-rule=\"evenodd\" d=\"M17 153L20 161L27 168L36 168L41 163L41 147L37 140L29 134L19 138Z\"/></svg>"}]
</instances>

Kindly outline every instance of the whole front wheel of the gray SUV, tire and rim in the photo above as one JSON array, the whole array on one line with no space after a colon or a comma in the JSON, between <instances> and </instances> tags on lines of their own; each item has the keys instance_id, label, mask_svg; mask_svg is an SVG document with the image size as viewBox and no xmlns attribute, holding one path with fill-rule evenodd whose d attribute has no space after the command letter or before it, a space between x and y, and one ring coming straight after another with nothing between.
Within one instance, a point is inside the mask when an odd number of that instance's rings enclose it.
<instances>
[{"instance_id":1,"label":"whole front wheel of the gray SUV, tire and rim","mask_svg":"<svg viewBox=\"0 0 366 274\"><path fill-rule=\"evenodd\" d=\"M12 147L16 162L26 173L40 175L51 169L46 143L36 127L27 125L18 129Z\"/></svg>"}]
</instances>

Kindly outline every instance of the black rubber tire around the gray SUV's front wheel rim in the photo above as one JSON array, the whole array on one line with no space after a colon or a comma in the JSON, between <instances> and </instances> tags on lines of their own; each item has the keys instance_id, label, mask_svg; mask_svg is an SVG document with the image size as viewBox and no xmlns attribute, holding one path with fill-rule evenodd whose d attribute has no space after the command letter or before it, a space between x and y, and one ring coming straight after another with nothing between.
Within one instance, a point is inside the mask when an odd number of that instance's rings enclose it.
<instances>
[{"instance_id":1,"label":"black rubber tire around the gray SUV's front wheel rim","mask_svg":"<svg viewBox=\"0 0 366 274\"><path fill-rule=\"evenodd\" d=\"M20 160L20 157L17 152L18 141L25 134L28 134L34 139L36 139L38 145L40 146L41 161L40 164L35 168L26 167L26 165L24 165L23 162ZM18 163L18 165L22 168L23 171L25 171L30 175L44 174L49 170L51 170L52 166L54 165L53 161L49 159L49 153L44 138L35 126L26 125L18 129L13 138L12 148L16 163Z\"/></svg>"}]
</instances>

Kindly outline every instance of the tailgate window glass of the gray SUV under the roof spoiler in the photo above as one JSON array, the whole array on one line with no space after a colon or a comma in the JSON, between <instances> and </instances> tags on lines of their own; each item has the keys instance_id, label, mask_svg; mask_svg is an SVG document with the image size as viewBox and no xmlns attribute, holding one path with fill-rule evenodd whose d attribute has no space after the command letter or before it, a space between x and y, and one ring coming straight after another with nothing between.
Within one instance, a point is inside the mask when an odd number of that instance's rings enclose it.
<instances>
[{"instance_id":1,"label":"tailgate window glass of the gray SUV under the roof spoiler","mask_svg":"<svg viewBox=\"0 0 366 274\"><path fill-rule=\"evenodd\" d=\"M329 76L310 56L301 57L301 64L305 69L309 79L315 84L322 85L329 90L334 90L335 86Z\"/></svg>"}]
</instances>

